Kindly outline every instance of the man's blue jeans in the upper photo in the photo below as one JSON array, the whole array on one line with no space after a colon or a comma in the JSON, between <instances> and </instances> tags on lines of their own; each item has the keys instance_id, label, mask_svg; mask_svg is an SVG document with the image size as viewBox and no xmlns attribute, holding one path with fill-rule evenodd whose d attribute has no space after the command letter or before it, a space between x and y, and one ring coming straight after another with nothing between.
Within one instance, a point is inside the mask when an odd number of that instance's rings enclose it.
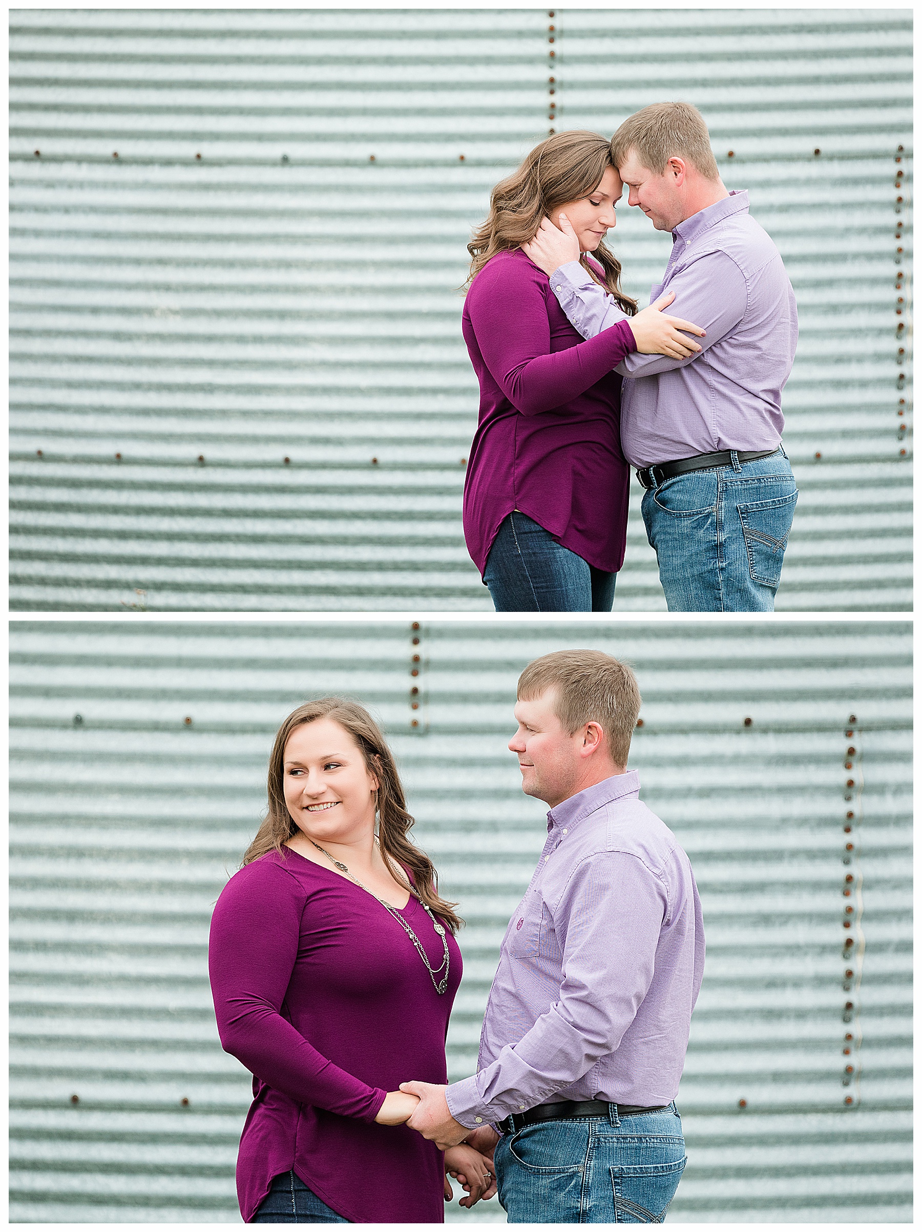
<instances>
[{"instance_id":1,"label":"man's blue jeans in the upper photo","mask_svg":"<svg viewBox=\"0 0 922 1232\"><path fill-rule=\"evenodd\" d=\"M796 503L783 448L646 492L643 522L669 611L774 611Z\"/></svg>"}]
</instances>

